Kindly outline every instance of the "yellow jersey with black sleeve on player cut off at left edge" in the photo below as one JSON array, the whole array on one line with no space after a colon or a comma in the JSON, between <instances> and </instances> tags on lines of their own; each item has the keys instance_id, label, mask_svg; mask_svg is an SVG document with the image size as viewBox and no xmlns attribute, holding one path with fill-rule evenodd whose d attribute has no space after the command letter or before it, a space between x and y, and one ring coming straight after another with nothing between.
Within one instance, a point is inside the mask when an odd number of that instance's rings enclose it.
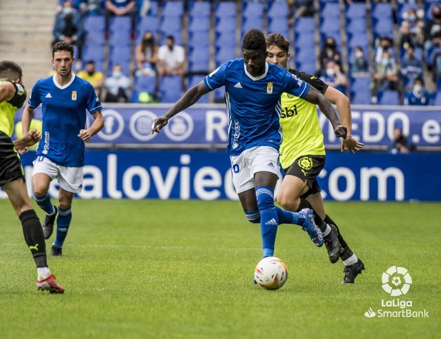
<instances>
[{"instance_id":1,"label":"yellow jersey with black sleeve on player cut off at left edge","mask_svg":"<svg viewBox=\"0 0 441 339\"><path fill-rule=\"evenodd\" d=\"M8 82L7 80L0 81L0 85ZM22 84L12 82L16 88L15 95L11 100L0 102L0 132L3 132L8 137L12 136L14 132L14 117L15 112L23 106L26 100L26 90Z\"/></svg>"}]
</instances>

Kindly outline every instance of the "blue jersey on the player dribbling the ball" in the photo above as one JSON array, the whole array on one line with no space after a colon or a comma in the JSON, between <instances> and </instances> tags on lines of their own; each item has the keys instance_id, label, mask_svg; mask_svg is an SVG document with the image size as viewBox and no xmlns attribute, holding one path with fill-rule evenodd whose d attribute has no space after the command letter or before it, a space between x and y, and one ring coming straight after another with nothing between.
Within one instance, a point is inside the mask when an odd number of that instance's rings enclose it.
<instances>
[{"instance_id":1,"label":"blue jersey on the player dribbling the ball","mask_svg":"<svg viewBox=\"0 0 441 339\"><path fill-rule=\"evenodd\" d=\"M244 59L230 60L204 78L207 89L225 86L228 111L227 154L239 155L255 146L279 149L282 129L282 93L303 98L309 84L286 69L268 64L265 73L254 77L246 71Z\"/></svg>"}]
</instances>

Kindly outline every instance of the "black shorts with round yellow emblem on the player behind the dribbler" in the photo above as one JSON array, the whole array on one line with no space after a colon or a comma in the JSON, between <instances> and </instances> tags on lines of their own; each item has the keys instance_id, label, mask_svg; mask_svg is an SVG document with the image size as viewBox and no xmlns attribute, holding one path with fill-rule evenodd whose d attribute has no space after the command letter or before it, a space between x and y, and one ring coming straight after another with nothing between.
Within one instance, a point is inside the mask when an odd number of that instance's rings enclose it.
<instances>
[{"instance_id":1,"label":"black shorts with round yellow emblem on the player behind the dribbler","mask_svg":"<svg viewBox=\"0 0 441 339\"><path fill-rule=\"evenodd\" d=\"M302 198L320 192L320 186L316 178L323 169L325 161L326 157L324 155L302 155L295 159L294 163L285 170L285 175L294 175L302 181L306 180L309 190L301 196Z\"/></svg>"}]
</instances>

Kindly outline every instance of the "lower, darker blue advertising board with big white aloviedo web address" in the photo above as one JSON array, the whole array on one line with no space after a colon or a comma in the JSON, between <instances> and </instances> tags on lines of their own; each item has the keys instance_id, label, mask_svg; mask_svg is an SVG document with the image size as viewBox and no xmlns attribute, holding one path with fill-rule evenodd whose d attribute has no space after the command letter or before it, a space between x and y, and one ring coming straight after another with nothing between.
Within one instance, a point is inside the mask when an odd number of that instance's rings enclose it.
<instances>
[{"instance_id":1,"label":"lower, darker blue advertising board with big white aloviedo web address","mask_svg":"<svg viewBox=\"0 0 441 339\"><path fill-rule=\"evenodd\" d=\"M22 157L28 183L32 153ZM88 150L86 164L84 199L237 199L223 151ZM440 166L441 153L328 152L319 184L326 200L440 201Z\"/></svg>"}]
</instances>

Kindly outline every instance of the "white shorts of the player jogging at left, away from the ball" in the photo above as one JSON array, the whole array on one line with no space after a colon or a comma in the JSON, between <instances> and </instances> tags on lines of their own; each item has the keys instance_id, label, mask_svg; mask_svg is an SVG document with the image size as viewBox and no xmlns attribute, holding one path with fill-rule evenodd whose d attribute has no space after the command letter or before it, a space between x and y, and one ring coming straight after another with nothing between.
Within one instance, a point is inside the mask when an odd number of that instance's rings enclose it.
<instances>
[{"instance_id":1,"label":"white shorts of the player jogging at left, away from the ball","mask_svg":"<svg viewBox=\"0 0 441 339\"><path fill-rule=\"evenodd\" d=\"M37 173L46 173L52 180L58 176L58 185L68 192L80 193L83 189L82 167L59 166L43 156L38 156L33 164L32 176Z\"/></svg>"}]
</instances>

